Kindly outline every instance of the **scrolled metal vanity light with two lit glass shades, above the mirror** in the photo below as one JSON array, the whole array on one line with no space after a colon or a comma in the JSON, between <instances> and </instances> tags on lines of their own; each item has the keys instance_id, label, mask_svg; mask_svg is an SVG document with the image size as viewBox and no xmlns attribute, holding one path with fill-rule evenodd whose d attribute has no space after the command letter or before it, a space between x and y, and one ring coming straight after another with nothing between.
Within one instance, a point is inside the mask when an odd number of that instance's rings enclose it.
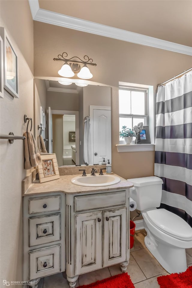
<instances>
[{"instance_id":1,"label":"scrolled metal vanity light with two lit glass shades, above the mirror","mask_svg":"<svg viewBox=\"0 0 192 288\"><path fill-rule=\"evenodd\" d=\"M92 63L93 59L89 58L87 55L84 56L84 60L81 60L79 57L74 56L70 59L67 59L67 53L59 54L58 58L53 58L54 61L62 61L64 65L58 71L58 74L63 77L73 77L77 74L77 77L81 79L91 79L93 75L88 69L87 65L97 66L97 64ZM76 60L77 59L77 60ZM80 61L79 61L80 60ZM83 65L81 67L81 64Z\"/></svg>"}]
</instances>

